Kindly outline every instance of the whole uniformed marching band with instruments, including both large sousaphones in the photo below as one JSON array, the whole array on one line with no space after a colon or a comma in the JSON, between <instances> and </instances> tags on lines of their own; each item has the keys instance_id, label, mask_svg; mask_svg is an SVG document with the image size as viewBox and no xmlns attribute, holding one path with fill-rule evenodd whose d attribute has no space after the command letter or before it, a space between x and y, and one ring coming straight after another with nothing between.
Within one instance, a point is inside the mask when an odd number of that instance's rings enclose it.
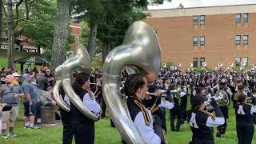
<instances>
[{"instance_id":1,"label":"whole uniformed marching band with instruments, including both large sousaphones","mask_svg":"<svg viewBox=\"0 0 256 144\"><path fill-rule=\"evenodd\" d=\"M141 43L143 39L150 41ZM254 71L246 71L244 66L242 71L222 71L223 64L219 62L216 70L207 72L205 62L202 72L194 72L190 64L182 73L178 70L181 63L170 70L162 65L159 71L160 63L158 38L145 22L134 22L129 27L124 44L108 54L102 74L98 70L90 73L89 55L83 46L78 46L74 58L62 64L64 72L59 80L70 99L76 143L94 143L94 122L100 115L105 116L100 113L94 94L104 97L98 97L98 102L105 100L123 143L167 143L166 110L170 110L172 131L180 132L182 124L188 122L193 133L190 144L214 144L214 127L218 127L216 136L225 138L231 100L238 144L252 142L256 113ZM66 76L75 68L86 73L74 78L74 94L70 77ZM90 74L94 88L90 88ZM58 93L54 97L58 98ZM58 104L68 110L63 102Z\"/></svg>"}]
</instances>

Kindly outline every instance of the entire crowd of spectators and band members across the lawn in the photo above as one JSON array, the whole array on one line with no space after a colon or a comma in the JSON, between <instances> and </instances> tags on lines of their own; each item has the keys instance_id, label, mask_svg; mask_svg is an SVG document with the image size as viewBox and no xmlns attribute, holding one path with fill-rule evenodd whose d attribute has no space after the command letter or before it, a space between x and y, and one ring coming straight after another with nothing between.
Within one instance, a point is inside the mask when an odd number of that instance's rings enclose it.
<instances>
[{"instance_id":1,"label":"entire crowd of spectators and band members across the lawn","mask_svg":"<svg viewBox=\"0 0 256 144\"><path fill-rule=\"evenodd\" d=\"M4 75L1 79L5 81L2 81L0 102L13 106L10 111L2 112L2 137L6 138L15 136L14 122L18 116L19 98L23 98L25 107L25 127L33 129L37 128L34 126L34 118L40 120L37 107L55 106L56 102L52 97L54 77L49 69L39 72L31 70L30 74L26 70L22 75L17 70L4 71L6 75L1 72ZM146 75L129 75L126 70L122 71L121 80L121 92L127 96L130 117L146 143L166 143L166 110L170 110L170 130L179 132L187 122L193 133L190 144L212 144L215 126L218 127L216 136L225 138L230 106L235 109L238 143L252 142L256 123L254 72L202 70L182 73L178 69L162 67L158 78L152 83L148 82ZM90 75L74 72L73 87L90 111L102 118L106 117L106 104L102 97L102 70L96 69ZM63 143L71 143L73 137L76 143L84 143L85 140L86 143L94 143L94 122L69 102L64 91L61 94L71 107L70 113L61 110ZM215 98L218 94L227 96L226 105L218 103L219 99ZM187 107L188 102L191 108ZM210 102L211 109L207 102ZM9 134L6 134L7 122L10 122ZM113 122L111 126L114 126ZM82 132L85 130L86 133Z\"/></svg>"}]
</instances>

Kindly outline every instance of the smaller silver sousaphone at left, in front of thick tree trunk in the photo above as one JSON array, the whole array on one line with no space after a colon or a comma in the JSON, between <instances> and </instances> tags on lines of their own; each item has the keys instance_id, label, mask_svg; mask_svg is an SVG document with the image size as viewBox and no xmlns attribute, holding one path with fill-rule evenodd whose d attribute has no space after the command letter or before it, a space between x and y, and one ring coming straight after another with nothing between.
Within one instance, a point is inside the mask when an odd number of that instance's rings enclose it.
<instances>
[{"instance_id":1,"label":"smaller silver sousaphone at left, in front of thick tree trunk","mask_svg":"<svg viewBox=\"0 0 256 144\"><path fill-rule=\"evenodd\" d=\"M67 107L63 104L62 98L59 98L58 90L59 87L63 86L66 95L70 98L70 102L74 104L81 111L82 114L86 115L87 118L90 118L93 121L98 120L98 116L90 112L83 105L81 99L74 92L72 87L72 74L73 70L79 70L81 72L85 72L86 74L90 74L90 57L86 50L85 46L78 44L74 50L74 57L66 59L66 61L55 70L55 76L57 76L57 86L54 86L54 98L58 99L58 105L63 107L64 110L68 110Z\"/></svg>"}]
</instances>

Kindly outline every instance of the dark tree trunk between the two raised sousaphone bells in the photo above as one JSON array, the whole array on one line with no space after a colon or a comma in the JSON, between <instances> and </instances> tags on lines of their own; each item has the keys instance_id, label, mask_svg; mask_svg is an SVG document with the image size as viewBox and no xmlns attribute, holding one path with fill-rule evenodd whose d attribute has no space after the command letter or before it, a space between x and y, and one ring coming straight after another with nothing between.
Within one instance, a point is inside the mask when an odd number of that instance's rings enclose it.
<instances>
[{"instance_id":1,"label":"dark tree trunk between the two raised sousaphone bells","mask_svg":"<svg viewBox=\"0 0 256 144\"><path fill-rule=\"evenodd\" d=\"M90 55L90 62L92 62L94 58L94 51L96 46L96 35L97 35L98 23L92 22L90 24L90 36L87 45L87 50Z\"/></svg>"}]
</instances>

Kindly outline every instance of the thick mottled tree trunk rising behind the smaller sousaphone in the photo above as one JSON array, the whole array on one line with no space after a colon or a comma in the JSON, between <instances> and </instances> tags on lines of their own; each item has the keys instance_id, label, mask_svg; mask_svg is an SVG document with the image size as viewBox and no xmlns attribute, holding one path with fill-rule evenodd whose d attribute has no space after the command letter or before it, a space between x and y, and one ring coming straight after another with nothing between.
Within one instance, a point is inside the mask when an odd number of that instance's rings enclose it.
<instances>
[{"instance_id":1,"label":"thick mottled tree trunk rising behind the smaller sousaphone","mask_svg":"<svg viewBox=\"0 0 256 144\"><path fill-rule=\"evenodd\" d=\"M56 24L54 26L54 41L51 53L50 70L61 65L66 59L66 39L69 33L70 0L57 0Z\"/></svg>"}]
</instances>

